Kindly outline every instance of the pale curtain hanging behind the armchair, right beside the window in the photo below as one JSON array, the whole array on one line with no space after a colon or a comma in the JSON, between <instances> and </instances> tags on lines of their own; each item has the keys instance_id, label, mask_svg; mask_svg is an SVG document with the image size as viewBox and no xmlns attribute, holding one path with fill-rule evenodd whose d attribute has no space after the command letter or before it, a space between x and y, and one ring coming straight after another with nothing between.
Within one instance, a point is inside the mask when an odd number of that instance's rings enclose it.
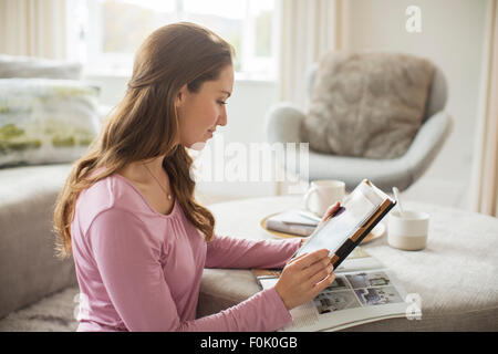
<instances>
[{"instance_id":1,"label":"pale curtain hanging behind the armchair, right beside the window","mask_svg":"<svg viewBox=\"0 0 498 354\"><path fill-rule=\"evenodd\" d=\"M279 98L307 105L310 66L341 45L342 0L280 0Z\"/></svg>"}]
</instances>

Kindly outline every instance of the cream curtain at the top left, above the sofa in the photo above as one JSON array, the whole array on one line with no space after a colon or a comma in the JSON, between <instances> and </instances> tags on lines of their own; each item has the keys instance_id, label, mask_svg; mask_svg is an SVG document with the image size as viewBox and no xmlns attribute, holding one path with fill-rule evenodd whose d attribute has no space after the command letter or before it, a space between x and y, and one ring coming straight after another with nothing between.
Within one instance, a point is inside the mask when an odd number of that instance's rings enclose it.
<instances>
[{"instance_id":1,"label":"cream curtain at the top left, above the sofa","mask_svg":"<svg viewBox=\"0 0 498 354\"><path fill-rule=\"evenodd\" d=\"M66 1L0 0L0 53L66 59Z\"/></svg>"}]
</instances>

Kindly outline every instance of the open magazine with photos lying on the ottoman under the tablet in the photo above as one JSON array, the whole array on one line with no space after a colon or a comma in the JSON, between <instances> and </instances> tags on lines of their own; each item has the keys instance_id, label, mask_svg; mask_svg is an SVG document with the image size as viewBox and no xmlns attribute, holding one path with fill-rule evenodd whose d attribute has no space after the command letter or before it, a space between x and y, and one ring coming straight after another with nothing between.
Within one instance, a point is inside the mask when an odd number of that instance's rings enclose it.
<instances>
[{"instance_id":1,"label":"open magazine with photos lying on the ottoman under the tablet","mask_svg":"<svg viewBox=\"0 0 498 354\"><path fill-rule=\"evenodd\" d=\"M334 282L312 301L292 309L292 323L280 331L339 331L406 315L405 290L361 247L334 272ZM261 288L268 289L277 283L280 270L255 269L253 273Z\"/></svg>"}]
</instances>

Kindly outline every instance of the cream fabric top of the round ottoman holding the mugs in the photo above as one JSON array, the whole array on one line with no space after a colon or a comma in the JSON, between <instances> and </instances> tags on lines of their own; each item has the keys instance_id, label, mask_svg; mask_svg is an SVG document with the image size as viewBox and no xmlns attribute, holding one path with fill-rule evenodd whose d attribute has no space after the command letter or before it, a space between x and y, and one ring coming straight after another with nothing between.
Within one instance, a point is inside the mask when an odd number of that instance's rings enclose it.
<instances>
[{"instance_id":1,"label":"cream fabric top of the round ottoman holding the mugs","mask_svg":"<svg viewBox=\"0 0 498 354\"><path fill-rule=\"evenodd\" d=\"M424 315L498 309L498 219L422 202L403 205L404 209L429 214L426 248L394 249L386 235L362 248L394 272L407 293L421 295ZM299 195L208 206L216 218L216 233L249 239L274 239L260 221L268 215L302 207Z\"/></svg>"}]
</instances>

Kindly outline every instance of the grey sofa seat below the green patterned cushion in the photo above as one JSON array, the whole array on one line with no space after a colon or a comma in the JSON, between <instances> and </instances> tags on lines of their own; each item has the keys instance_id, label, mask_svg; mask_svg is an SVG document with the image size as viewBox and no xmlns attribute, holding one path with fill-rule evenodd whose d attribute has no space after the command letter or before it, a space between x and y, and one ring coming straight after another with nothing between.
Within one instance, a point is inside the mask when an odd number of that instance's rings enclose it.
<instances>
[{"instance_id":1,"label":"grey sofa seat below the green patterned cushion","mask_svg":"<svg viewBox=\"0 0 498 354\"><path fill-rule=\"evenodd\" d=\"M0 168L0 317L76 284L55 258L53 208L71 165Z\"/></svg>"}]
</instances>

